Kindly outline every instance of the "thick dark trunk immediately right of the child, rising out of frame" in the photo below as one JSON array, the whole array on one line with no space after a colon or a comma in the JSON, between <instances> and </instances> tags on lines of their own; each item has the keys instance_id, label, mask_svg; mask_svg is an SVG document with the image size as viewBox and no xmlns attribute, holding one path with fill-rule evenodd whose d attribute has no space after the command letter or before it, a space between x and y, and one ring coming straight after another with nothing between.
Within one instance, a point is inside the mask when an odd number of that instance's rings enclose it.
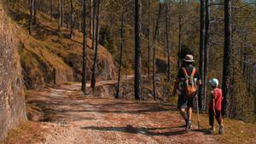
<instances>
[{"instance_id":1,"label":"thick dark trunk immediately right of the child, rising out of frame","mask_svg":"<svg viewBox=\"0 0 256 144\"><path fill-rule=\"evenodd\" d=\"M224 0L224 62L223 62L223 109L222 114L228 115L230 99L230 49L231 49L231 1Z\"/></svg>"}]
</instances>

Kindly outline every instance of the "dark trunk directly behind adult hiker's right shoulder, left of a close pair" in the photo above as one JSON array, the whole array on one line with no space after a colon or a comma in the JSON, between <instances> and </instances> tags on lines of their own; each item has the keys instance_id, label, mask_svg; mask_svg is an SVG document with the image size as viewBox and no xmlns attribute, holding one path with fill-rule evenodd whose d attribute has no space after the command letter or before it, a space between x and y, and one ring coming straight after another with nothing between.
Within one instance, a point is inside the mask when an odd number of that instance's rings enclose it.
<instances>
[{"instance_id":1,"label":"dark trunk directly behind adult hiker's right shoulder, left of a close pair","mask_svg":"<svg viewBox=\"0 0 256 144\"><path fill-rule=\"evenodd\" d=\"M205 0L201 0L201 9L200 9L200 51L199 51L199 72L201 75L201 80L202 80L202 85L199 88L199 95L198 95L198 99L199 99L199 107L201 109L205 109L205 106L203 105L205 102L202 101L204 98L204 42L205 42L205 7L206 7L206 3Z\"/></svg>"}]
</instances>

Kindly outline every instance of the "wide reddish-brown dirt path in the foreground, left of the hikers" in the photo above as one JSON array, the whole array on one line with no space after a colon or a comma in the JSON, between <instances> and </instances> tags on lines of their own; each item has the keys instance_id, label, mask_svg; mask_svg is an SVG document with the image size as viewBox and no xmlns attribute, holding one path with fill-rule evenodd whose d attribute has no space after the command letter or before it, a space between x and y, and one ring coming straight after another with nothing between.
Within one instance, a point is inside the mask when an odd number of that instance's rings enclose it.
<instances>
[{"instance_id":1,"label":"wide reddish-brown dirt path in the foreground, left of the hikers","mask_svg":"<svg viewBox=\"0 0 256 144\"><path fill-rule=\"evenodd\" d=\"M73 84L31 92L27 103L44 108L41 125L49 130L41 144L216 143L201 131L185 133L174 106L83 97L79 88Z\"/></svg>"}]
</instances>

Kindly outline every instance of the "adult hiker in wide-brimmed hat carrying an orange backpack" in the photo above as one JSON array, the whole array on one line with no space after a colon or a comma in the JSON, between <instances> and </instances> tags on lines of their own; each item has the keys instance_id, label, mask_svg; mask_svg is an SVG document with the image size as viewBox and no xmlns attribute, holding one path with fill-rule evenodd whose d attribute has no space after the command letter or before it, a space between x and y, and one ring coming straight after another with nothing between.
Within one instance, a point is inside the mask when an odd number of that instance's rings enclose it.
<instances>
[{"instance_id":1,"label":"adult hiker in wide-brimmed hat carrying an orange backpack","mask_svg":"<svg viewBox=\"0 0 256 144\"><path fill-rule=\"evenodd\" d=\"M193 55L186 55L183 66L179 68L172 95L178 95L177 108L186 124L186 131L191 130L193 100L197 88L201 85L201 76L192 64ZM187 113L186 113L187 112Z\"/></svg>"}]
</instances>

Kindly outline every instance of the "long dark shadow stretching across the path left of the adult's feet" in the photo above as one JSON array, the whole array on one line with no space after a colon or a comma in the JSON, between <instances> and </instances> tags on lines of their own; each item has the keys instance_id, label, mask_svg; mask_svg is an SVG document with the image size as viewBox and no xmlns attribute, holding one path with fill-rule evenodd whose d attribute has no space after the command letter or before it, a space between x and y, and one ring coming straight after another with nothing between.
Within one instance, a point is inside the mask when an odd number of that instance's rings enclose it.
<instances>
[{"instance_id":1,"label":"long dark shadow stretching across the path left of the adult's feet","mask_svg":"<svg viewBox=\"0 0 256 144\"><path fill-rule=\"evenodd\" d=\"M131 134L142 134L149 136L169 136L169 135L183 135L186 133L181 127L171 127L171 128L143 128L143 127L133 127L131 124L127 124L125 127L82 127L83 130L102 130L102 131L117 131L125 132ZM163 131L164 130L164 131Z\"/></svg>"}]
</instances>

